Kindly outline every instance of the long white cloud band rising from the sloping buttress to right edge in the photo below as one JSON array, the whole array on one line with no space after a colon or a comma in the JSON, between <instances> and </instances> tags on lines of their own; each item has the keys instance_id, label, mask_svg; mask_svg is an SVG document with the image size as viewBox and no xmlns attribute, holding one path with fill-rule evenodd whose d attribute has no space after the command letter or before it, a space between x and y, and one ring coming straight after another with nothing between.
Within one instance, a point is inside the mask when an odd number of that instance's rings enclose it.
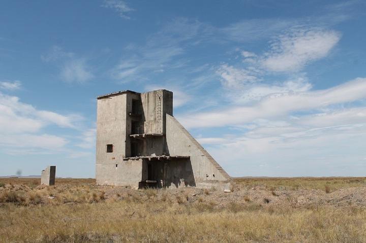
<instances>
[{"instance_id":1,"label":"long white cloud band rising from the sloping buttress to right edge","mask_svg":"<svg viewBox=\"0 0 366 243\"><path fill-rule=\"evenodd\" d=\"M268 95L252 106L234 106L223 110L181 115L187 127L220 127L274 118L295 111L325 108L329 105L366 98L366 79L357 78L343 85L316 91Z\"/></svg>"}]
</instances>

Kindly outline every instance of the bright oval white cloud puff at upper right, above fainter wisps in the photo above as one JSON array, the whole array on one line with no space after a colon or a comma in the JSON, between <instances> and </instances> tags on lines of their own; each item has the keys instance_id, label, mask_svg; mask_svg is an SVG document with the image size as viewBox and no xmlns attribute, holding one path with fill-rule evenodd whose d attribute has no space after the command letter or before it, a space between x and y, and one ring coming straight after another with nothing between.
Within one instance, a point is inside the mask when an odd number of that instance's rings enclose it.
<instances>
[{"instance_id":1,"label":"bright oval white cloud puff at upper right, above fainter wisps","mask_svg":"<svg viewBox=\"0 0 366 243\"><path fill-rule=\"evenodd\" d=\"M340 40L340 33L332 30L297 29L281 36L271 44L262 59L269 71L299 71L310 61L323 58Z\"/></svg>"}]
</instances>

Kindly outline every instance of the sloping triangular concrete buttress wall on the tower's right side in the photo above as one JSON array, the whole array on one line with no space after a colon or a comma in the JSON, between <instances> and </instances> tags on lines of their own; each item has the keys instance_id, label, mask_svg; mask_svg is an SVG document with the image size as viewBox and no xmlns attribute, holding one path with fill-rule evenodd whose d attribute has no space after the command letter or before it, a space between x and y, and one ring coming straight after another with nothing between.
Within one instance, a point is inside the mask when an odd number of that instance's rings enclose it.
<instances>
[{"instance_id":1,"label":"sloping triangular concrete buttress wall on the tower's right side","mask_svg":"<svg viewBox=\"0 0 366 243\"><path fill-rule=\"evenodd\" d=\"M230 177L192 135L172 116L166 116L166 140L169 154L190 156L198 187L229 187Z\"/></svg>"}]
</instances>

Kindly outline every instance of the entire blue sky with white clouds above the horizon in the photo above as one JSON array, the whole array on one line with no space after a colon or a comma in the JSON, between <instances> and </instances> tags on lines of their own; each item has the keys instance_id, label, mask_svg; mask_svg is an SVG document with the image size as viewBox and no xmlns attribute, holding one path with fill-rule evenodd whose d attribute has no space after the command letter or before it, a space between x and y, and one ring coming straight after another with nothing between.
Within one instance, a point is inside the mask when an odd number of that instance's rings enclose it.
<instances>
[{"instance_id":1,"label":"entire blue sky with white clouds above the horizon","mask_svg":"<svg viewBox=\"0 0 366 243\"><path fill-rule=\"evenodd\" d=\"M96 96L174 92L231 176L364 176L364 1L5 1L0 176L95 176Z\"/></svg>"}]
</instances>

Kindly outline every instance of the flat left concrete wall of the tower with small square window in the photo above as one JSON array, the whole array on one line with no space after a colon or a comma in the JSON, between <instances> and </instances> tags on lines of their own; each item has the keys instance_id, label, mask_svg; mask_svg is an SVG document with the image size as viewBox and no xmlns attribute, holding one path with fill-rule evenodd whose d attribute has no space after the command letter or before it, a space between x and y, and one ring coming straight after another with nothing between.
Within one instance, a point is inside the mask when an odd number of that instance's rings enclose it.
<instances>
[{"instance_id":1,"label":"flat left concrete wall of the tower with small square window","mask_svg":"<svg viewBox=\"0 0 366 243\"><path fill-rule=\"evenodd\" d=\"M97 99L96 179L98 185L110 180L111 168L126 156L127 94ZM113 152L107 153L107 144Z\"/></svg>"}]
</instances>

